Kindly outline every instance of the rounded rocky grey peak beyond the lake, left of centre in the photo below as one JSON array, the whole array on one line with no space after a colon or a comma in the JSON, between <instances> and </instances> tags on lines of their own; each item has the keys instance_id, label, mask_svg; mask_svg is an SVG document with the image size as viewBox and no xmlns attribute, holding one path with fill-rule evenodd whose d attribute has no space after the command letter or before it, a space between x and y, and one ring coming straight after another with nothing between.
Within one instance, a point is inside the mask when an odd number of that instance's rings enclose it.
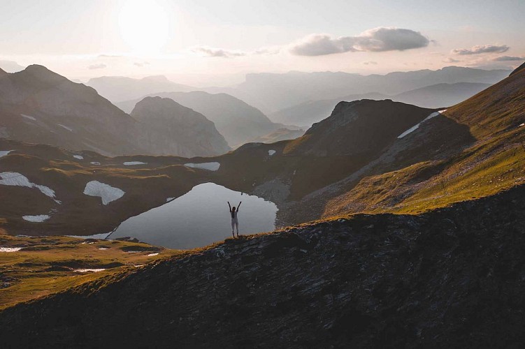
<instances>
[{"instance_id":1,"label":"rounded rocky grey peak beyond the lake, left of centre","mask_svg":"<svg viewBox=\"0 0 525 349\"><path fill-rule=\"evenodd\" d=\"M148 136L150 147L159 149L160 155L178 154L191 158L229 151L226 140L212 121L170 98L146 97L136 104L130 115L152 131ZM156 138L156 135L162 137Z\"/></svg>"}]
</instances>

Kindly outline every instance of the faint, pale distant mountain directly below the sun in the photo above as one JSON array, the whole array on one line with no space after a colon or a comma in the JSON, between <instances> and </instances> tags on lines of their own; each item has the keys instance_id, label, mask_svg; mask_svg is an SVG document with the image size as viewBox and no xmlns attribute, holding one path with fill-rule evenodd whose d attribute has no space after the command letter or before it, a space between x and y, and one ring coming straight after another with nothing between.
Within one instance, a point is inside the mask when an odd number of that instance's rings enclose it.
<instances>
[{"instance_id":1,"label":"faint, pale distant mountain directly below the sun","mask_svg":"<svg viewBox=\"0 0 525 349\"><path fill-rule=\"evenodd\" d=\"M160 91L192 91L194 87L177 84L165 76L148 76L134 79L123 76L102 76L89 79L87 86L93 87L101 96L113 103L129 101ZM131 110L129 110L131 112Z\"/></svg>"}]
</instances>

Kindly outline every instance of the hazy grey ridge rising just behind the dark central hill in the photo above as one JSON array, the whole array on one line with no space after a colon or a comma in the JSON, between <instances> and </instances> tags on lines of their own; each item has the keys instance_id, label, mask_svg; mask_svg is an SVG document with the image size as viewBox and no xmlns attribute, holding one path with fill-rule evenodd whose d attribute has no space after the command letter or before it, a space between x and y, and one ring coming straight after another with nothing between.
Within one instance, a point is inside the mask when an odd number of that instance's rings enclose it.
<instances>
[{"instance_id":1,"label":"hazy grey ridge rising just behind the dark central hill","mask_svg":"<svg viewBox=\"0 0 525 349\"><path fill-rule=\"evenodd\" d=\"M457 82L455 84L434 84L420 89L405 91L394 96L377 93L357 94L301 103L288 107L285 110L274 112L270 114L270 117L272 120L283 124L310 126L328 117L340 101L351 102L360 99L373 99L375 101L391 99L397 102L418 105L419 107L447 107L465 101L489 86L489 84Z\"/></svg>"}]
</instances>

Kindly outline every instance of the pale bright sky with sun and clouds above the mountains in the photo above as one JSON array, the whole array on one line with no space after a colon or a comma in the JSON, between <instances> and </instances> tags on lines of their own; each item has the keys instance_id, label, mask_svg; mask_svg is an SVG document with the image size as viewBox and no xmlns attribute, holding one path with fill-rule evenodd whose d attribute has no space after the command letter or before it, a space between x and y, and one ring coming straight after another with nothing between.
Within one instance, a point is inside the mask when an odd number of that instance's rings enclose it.
<instances>
[{"instance_id":1,"label":"pale bright sky with sun and clouds above the mountains","mask_svg":"<svg viewBox=\"0 0 525 349\"><path fill-rule=\"evenodd\" d=\"M0 0L0 68L70 79L389 73L525 61L523 0Z\"/></svg>"}]
</instances>

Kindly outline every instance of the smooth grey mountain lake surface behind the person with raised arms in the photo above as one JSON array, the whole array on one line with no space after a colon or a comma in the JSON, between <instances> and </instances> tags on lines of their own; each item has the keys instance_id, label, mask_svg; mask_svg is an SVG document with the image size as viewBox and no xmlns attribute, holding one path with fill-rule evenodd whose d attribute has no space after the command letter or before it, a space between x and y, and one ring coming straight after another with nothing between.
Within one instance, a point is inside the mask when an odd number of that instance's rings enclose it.
<instances>
[{"instance_id":1,"label":"smooth grey mountain lake surface behind the person with raised arms","mask_svg":"<svg viewBox=\"0 0 525 349\"><path fill-rule=\"evenodd\" d=\"M189 193L166 205L127 219L110 239L136 237L148 244L168 248L206 246L231 237L231 218L226 201L232 206L243 202L238 213L240 235L275 229L278 209L273 202L205 183L194 186Z\"/></svg>"}]
</instances>

